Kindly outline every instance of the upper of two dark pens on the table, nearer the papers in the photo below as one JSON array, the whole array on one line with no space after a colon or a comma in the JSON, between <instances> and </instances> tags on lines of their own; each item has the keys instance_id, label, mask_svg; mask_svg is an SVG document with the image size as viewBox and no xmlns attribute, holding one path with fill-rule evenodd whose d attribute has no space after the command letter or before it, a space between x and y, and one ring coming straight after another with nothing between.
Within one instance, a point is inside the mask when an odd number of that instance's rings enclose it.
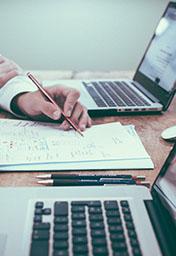
<instances>
[{"instance_id":1,"label":"upper of two dark pens on the table, nearer the papers","mask_svg":"<svg viewBox=\"0 0 176 256\"><path fill-rule=\"evenodd\" d=\"M117 178L117 179L134 179L134 180L145 180L144 175L133 176L130 174L113 174L113 175L82 175L82 174L41 174L37 175L36 178L39 179L89 179L89 180L97 180L97 179L109 179L109 178Z\"/></svg>"}]
</instances>

